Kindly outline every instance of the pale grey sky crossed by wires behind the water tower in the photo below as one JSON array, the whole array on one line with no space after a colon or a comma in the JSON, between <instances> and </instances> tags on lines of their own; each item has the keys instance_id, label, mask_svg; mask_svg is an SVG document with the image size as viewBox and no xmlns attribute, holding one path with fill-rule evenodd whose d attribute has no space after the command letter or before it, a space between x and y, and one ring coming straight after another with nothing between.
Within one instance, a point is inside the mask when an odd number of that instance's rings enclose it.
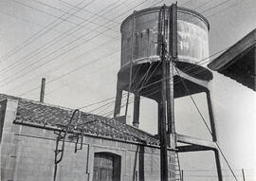
<instances>
[{"instance_id":1,"label":"pale grey sky crossed by wires behind the water tower","mask_svg":"<svg viewBox=\"0 0 256 181\"><path fill-rule=\"evenodd\" d=\"M82 106L116 95L121 22L134 10L171 5L156 0L1 0L0 93L39 100L46 78L46 103ZM202 13L210 22L210 55L233 45L256 27L255 0L181 0L178 6ZM213 72L212 93L219 144L242 179L256 180L256 93ZM208 118L204 94L193 96ZM86 107L92 112L102 104ZM131 124L133 105L129 106ZM110 103L92 112L106 115ZM141 100L139 128L156 133L157 107ZM175 100L178 133L210 139L189 98ZM210 152L180 154L186 180L216 180ZM222 160L223 161L223 160ZM223 162L226 181L234 180ZM254 179L253 179L254 173Z\"/></svg>"}]
</instances>

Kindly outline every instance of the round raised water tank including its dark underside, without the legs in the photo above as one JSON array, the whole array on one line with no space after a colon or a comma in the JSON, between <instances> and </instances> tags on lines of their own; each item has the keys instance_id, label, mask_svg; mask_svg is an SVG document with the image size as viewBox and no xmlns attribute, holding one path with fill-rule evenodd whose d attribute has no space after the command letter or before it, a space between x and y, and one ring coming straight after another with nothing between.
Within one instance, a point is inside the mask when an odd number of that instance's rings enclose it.
<instances>
[{"instance_id":1,"label":"round raised water tank including its dark underside, without the legs","mask_svg":"<svg viewBox=\"0 0 256 181\"><path fill-rule=\"evenodd\" d=\"M170 7L155 7L135 11L121 24L121 61L118 86L122 90L139 94L156 101L161 100L162 70L160 59L161 40L158 27L161 10L165 10L166 43L169 50ZM206 90L212 74L206 66L209 61L209 23L201 14L177 8L177 59L174 61L174 98L188 96L180 82L186 81L191 94ZM160 19L160 20L159 20ZM172 41L172 39L171 39ZM132 65L132 66L131 66ZM178 71L176 71L178 70ZM180 76L180 74L182 74ZM198 85L198 83L200 85ZM155 93L154 93L155 92Z\"/></svg>"}]
</instances>

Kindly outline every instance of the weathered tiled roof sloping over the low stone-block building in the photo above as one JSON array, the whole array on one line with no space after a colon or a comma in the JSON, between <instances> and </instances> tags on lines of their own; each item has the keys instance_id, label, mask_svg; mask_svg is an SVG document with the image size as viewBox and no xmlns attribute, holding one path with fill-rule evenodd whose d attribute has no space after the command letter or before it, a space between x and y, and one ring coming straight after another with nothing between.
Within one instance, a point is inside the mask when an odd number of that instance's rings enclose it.
<instances>
[{"instance_id":1,"label":"weathered tiled roof sloping over the low stone-block building","mask_svg":"<svg viewBox=\"0 0 256 181\"><path fill-rule=\"evenodd\" d=\"M24 100L0 94L0 100L19 100L16 121L33 123L42 127L60 128L66 125L73 111L64 107L49 105L46 103ZM80 113L78 118L72 120L77 130L81 129L87 136L103 136L111 139L143 143L147 145L158 145L159 140L142 130L128 124L119 122L114 118L104 118L97 115Z\"/></svg>"}]
</instances>

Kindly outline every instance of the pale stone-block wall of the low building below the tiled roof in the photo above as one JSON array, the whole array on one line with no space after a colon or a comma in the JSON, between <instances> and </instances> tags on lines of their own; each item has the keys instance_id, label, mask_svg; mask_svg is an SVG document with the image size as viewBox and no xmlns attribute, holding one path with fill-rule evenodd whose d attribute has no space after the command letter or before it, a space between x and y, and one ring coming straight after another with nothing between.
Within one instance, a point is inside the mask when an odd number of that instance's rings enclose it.
<instances>
[{"instance_id":1,"label":"pale stone-block wall of the low building below the tiled roof","mask_svg":"<svg viewBox=\"0 0 256 181\"><path fill-rule=\"evenodd\" d=\"M46 181L53 179L56 135L52 130L13 124L17 101L0 102L6 106L1 142L2 181ZM1 111L1 110L0 110ZM1 118L2 117L2 118ZM58 166L57 181L93 180L95 153L112 153L121 156L123 181L156 181L160 178L159 149L97 136L84 136L83 148L74 153L75 143L67 139L63 161ZM169 160L174 153L169 152ZM171 164L170 170L174 170Z\"/></svg>"}]
</instances>

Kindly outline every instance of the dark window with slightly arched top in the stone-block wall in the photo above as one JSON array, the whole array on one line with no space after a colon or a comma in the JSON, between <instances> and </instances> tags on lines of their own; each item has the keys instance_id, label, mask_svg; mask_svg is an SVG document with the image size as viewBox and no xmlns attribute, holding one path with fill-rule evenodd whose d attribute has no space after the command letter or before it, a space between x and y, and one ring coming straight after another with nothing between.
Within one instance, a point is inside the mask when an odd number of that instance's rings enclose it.
<instances>
[{"instance_id":1,"label":"dark window with slightly arched top in the stone-block wall","mask_svg":"<svg viewBox=\"0 0 256 181\"><path fill-rule=\"evenodd\" d=\"M93 181L119 181L120 156L110 153L94 154Z\"/></svg>"}]
</instances>

